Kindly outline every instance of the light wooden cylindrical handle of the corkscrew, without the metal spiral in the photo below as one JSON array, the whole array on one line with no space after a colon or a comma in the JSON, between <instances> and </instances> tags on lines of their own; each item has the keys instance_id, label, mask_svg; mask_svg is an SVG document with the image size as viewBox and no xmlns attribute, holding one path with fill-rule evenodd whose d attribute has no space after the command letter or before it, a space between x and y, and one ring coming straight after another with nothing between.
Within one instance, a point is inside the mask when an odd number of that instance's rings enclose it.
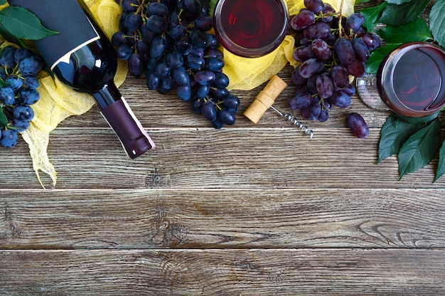
<instances>
[{"instance_id":1,"label":"light wooden cylindrical handle of the corkscrew, without the metal spiral","mask_svg":"<svg viewBox=\"0 0 445 296\"><path fill-rule=\"evenodd\" d=\"M274 75L267 83L266 87L259 92L255 100L250 104L249 107L243 113L245 117L249 118L252 122L257 124L267 109L272 106L275 99L280 93L286 88L287 84Z\"/></svg>"}]
</instances>

